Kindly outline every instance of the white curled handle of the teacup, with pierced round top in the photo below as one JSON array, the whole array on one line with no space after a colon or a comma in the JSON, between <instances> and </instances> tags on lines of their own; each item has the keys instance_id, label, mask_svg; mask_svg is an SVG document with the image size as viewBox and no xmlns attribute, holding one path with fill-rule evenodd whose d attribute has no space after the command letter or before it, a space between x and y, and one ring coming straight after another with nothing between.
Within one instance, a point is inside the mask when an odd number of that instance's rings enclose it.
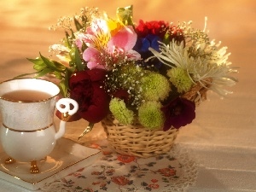
<instances>
[{"instance_id":1,"label":"white curled handle of the teacup, with pierced round top","mask_svg":"<svg viewBox=\"0 0 256 192\"><path fill-rule=\"evenodd\" d=\"M73 105L73 109L70 108L70 104ZM55 107L61 113L68 116L73 115L74 113L77 113L77 111L79 110L78 102L70 98L61 98L58 102L56 102ZM61 120L59 131L55 133L55 140L61 138L64 135L65 130L66 130L66 121Z\"/></svg>"}]
</instances>

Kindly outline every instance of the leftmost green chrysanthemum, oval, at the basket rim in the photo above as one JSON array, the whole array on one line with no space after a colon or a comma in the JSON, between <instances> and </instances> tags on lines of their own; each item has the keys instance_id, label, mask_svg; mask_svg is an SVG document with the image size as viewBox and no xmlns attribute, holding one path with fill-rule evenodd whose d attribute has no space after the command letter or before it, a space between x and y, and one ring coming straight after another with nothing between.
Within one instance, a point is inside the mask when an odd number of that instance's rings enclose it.
<instances>
[{"instance_id":1,"label":"leftmost green chrysanthemum, oval, at the basket rim","mask_svg":"<svg viewBox=\"0 0 256 192\"><path fill-rule=\"evenodd\" d=\"M134 113L126 108L125 102L119 98L113 98L109 103L109 109L115 119L119 121L120 124L130 125L133 120Z\"/></svg>"}]
</instances>

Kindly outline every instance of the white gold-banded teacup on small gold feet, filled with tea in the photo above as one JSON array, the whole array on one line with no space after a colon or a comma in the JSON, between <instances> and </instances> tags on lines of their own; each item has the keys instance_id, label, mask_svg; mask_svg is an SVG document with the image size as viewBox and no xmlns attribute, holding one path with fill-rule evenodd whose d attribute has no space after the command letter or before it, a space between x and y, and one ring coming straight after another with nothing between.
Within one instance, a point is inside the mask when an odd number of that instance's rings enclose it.
<instances>
[{"instance_id":1,"label":"white gold-banded teacup on small gold feet, filled with tea","mask_svg":"<svg viewBox=\"0 0 256 192\"><path fill-rule=\"evenodd\" d=\"M41 93L32 96L35 91ZM6 163L13 163L15 160L31 162L31 172L39 172L37 160L50 154L56 140L65 133L66 121L63 120L59 131L55 131L55 107L64 116L73 115L79 108L78 103L69 98L62 98L57 102L59 93L60 89L56 84L44 79L12 79L0 84L0 108L3 116L0 139L3 150L10 157ZM47 96L40 98L44 94Z\"/></svg>"}]
</instances>

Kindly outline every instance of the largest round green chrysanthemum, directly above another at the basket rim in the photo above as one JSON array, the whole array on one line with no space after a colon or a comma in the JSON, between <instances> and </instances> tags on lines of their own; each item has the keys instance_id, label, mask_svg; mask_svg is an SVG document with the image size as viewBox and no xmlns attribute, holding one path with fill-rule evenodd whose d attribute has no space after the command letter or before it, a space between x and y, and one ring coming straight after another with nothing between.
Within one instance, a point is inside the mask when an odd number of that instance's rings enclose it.
<instances>
[{"instance_id":1,"label":"largest round green chrysanthemum, directly above another at the basket rim","mask_svg":"<svg viewBox=\"0 0 256 192\"><path fill-rule=\"evenodd\" d=\"M163 101L171 87L168 79L160 73L147 73L141 79L143 99L146 101Z\"/></svg>"}]
</instances>

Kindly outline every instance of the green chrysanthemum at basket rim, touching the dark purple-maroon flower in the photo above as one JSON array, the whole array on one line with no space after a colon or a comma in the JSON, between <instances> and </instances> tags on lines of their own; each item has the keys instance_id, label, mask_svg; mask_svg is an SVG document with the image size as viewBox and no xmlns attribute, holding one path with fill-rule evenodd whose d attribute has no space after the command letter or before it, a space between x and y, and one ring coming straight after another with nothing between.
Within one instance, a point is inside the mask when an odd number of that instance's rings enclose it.
<instances>
[{"instance_id":1,"label":"green chrysanthemum at basket rim, touching the dark purple-maroon flower","mask_svg":"<svg viewBox=\"0 0 256 192\"><path fill-rule=\"evenodd\" d=\"M160 102L144 102L138 108L138 120L148 130L155 130L163 127L165 122L164 113L160 110Z\"/></svg>"}]
</instances>

